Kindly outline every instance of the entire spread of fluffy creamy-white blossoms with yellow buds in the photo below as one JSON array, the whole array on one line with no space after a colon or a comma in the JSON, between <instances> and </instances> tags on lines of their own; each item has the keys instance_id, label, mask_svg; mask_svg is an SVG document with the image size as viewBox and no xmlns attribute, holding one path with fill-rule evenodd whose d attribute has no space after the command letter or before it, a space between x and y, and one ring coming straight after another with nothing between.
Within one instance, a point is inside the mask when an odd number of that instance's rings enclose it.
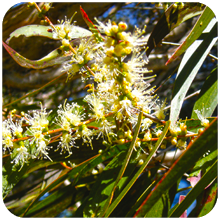
<instances>
[{"instance_id":1,"label":"entire spread of fluffy creamy-white blossoms with yellow buds","mask_svg":"<svg viewBox=\"0 0 220 220\"><path fill-rule=\"evenodd\" d=\"M48 135L50 123L59 126L62 132L55 151L61 149L61 153L71 155L71 148L77 147L76 139L82 139L91 148L94 136L101 136L108 144L132 140L133 128L140 111L145 113L141 123L143 140L150 141L150 127L154 121L146 115L153 113L159 120L165 118L165 102L157 103L153 88L146 82L151 77L146 76L150 71L146 67L147 42L143 37L144 30L135 28L135 32L131 34L125 32L127 24L124 22L116 25L111 21L107 24L96 21L98 34L103 35L99 39L102 40L97 40L96 31L94 36L82 39L74 50L70 46L72 58L63 64L68 77L79 72L82 80L94 80L94 83L88 85L88 94L84 98L90 112L86 114L84 107L77 103L64 102L58 107L57 117L52 122L48 120L50 112L46 112L43 107L32 114L24 114L18 121L14 122L11 117L3 122L3 151L9 151L12 162L20 164L21 168L30 158L43 157L52 161L48 155L51 148L51 137ZM70 22L66 19L61 23L54 30L54 38L68 46L71 39ZM199 113L198 116L200 117ZM87 125L94 121L96 129ZM206 124L206 121L202 119L202 123ZM181 126L171 128L170 133L174 133L173 144L184 148L185 140L176 140L176 133L186 133L186 127ZM151 145L148 144L149 149Z\"/></svg>"}]
</instances>

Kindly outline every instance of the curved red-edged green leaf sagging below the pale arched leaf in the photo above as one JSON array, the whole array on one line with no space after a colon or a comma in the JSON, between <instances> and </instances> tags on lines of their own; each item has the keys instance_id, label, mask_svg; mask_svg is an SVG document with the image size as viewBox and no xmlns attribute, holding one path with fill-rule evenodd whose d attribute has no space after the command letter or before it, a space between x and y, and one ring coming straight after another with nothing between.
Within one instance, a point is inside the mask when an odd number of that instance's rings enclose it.
<instances>
[{"instance_id":1,"label":"curved red-edged green leaf sagging below the pale arched leaf","mask_svg":"<svg viewBox=\"0 0 220 220\"><path fill-rule=\"evenodd\" d=\"M10 46L5 44L4 42L3 46L8 51L10 56L22 67L25 68L33 68L33 69L43 69L49 66L61 64L67 60L70 59L70 53L65 53L61 49L56 49L49 53L47 56L43 57L39 60L29 60L19 53L17 53L15 50L13 50Z\"/></svg>"}]
</instances>

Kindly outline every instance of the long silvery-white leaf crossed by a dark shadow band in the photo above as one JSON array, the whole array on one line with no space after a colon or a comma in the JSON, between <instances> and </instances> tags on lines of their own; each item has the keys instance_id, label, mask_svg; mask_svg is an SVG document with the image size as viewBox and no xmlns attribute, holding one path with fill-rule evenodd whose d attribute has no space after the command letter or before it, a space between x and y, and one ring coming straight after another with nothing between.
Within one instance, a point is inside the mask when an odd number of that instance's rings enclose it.
<instances>
[{"instance_id":1,"label":"long silvery-white leaf crossed by a dark shadow band","mask_svg":"<svg viewBox=\"0 0 220 220\"><path fill-rule=\"evenodd\" d=\"M173 88L173 99L170 110L171 125L176 123L185 95L199 68L202 66L203 61L217 40L216 28L217 21L213 18L201 35L200 40L196 40L183 56Z\"/></svg>"}]
</instances>

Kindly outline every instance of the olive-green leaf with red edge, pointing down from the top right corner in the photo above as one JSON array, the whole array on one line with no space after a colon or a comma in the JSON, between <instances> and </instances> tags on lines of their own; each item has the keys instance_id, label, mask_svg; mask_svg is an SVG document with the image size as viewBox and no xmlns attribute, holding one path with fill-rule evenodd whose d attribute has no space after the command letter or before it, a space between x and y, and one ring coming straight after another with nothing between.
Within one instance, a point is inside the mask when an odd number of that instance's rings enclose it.
<instances>
[{"instance_id":1,"label":"olive-green leaf with red edge, pointing down from the top right corner","mask_svg":"<svg viewBox=\"0 0 220 220\"><path fill-rule=\"evenodd\" d=\"M196 22L193 29L190 31L187 38L184 40L184 42L177 48L177 50L174 52L174 54L170 57L170 59L167 61L165 65L168 65L173 60L175 60L178 56L180 56L182 53L184 53L187 48L199 38L199 36L202 34L203 30L207 27L209 22L212 20L212 18L215 16L215 14L212 12L212 10L206 6L205 10L203 11L202 15Z\"/></svg>"}]
</instances>

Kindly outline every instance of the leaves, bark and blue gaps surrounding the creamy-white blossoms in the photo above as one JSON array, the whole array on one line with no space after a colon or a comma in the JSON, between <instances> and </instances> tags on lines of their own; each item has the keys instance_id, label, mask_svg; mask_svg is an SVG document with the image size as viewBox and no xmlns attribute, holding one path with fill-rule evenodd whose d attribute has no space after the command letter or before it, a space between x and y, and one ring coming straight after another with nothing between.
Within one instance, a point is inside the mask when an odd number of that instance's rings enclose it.
<instances>
[{"instance_id":1,"label":"leaves, bark and blue gaps surrounding the creamy-white blossoms","mask_svg":"<svg viewBox=\"0 0 220 220\"><path fill-rule=\"evenodd\" d=\"M56 24L57 19L65 15L70 18L74 11L79 12L79 5L91 20L98 16L103 21L123 20L128 23L129 31L134 24L141 28L147 24L148 69L157 74L151 85L156 85L157 94L167 98L170 104L166 125L150 154L143 155L142 163L141 151L133 151L125 165L132 143L106 149L99 140L94 140L93 150L82 145L73 149L68 158L53 152L50 153L53 162L33 160L19 172L12 169L9 156L4 155L3 197L7 208L17 216L27 217L179 217L186 215L185 210L196 200L187 215L207 214L217 199L215 15L197 3L54 3L47 16ZM78 26L87 28L80 12L74 20ZM40 21L37 11L27 9L26 4L11 8L4 17L3 42L7 51L3 51L3 119L14 108L18 115L21 111L37 109L39 102L47 109L56 109L66 98L79 105L83 103L85 84L80 76L68 82L64 74L60 76L61 62L65 59L56 60L60 42L41 33L36 37L32 32L25 36L14 32ZM12 48L21 56L13 53ZM44 66L45 60L40 59L51 51L55 51L52 54L55 58L50 61L59 64ZM34 68L18 65L11 56L20 65L29 64ZM188 96L191 98L186 100ZM188 140L186 150L179 151L173 145L165 150L159 148L170 123L178 117L188 118L187 130L197 133L201 124L194 110L202 111L204 107L208 109L203 116L208 117L210 125L192 138L193 141ZM53 117L52 113L50 120ZM125 172L120 176L122 168ZM186 190L178 188L179 183L186 178L191 190L182 202L176 203L176 194Z\"/></svg>"}]
</instances>

